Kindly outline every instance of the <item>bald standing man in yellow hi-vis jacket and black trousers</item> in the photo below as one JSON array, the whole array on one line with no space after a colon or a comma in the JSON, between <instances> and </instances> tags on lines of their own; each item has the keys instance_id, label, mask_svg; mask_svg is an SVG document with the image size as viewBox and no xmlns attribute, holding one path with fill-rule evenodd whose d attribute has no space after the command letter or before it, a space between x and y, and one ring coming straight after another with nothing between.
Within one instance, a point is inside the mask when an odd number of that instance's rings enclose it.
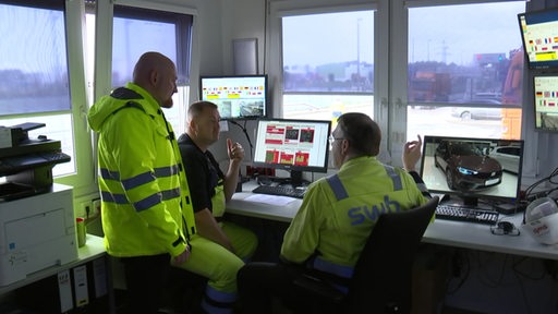
<instances>
[{"instance_id":1,"label":"bald standing man in yellow hi-vis jacket and black trousers","mask_svg":"<svg viewBox=\"0 0 558 314\"><path fill-rule=\"evenodd\" d=\"M174 63L146 52L133 82L101 97L87 114L99 135L105 246L124 265L130 313L157 313L169 261L186 262L196 232L180 150L161 110L172 107L174 93Z\"/></svg>"}]
</instances>

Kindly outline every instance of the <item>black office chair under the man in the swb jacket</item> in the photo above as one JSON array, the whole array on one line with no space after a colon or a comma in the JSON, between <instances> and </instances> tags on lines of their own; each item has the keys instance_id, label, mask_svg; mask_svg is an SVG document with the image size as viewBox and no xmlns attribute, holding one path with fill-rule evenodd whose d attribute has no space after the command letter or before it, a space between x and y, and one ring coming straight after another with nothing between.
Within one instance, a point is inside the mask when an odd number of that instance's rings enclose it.
<instances>
[{"instance_id":1,"label":"black office chair under the man in the swb jacket","mask_svg":"<svg viewBox=\"0 0 558 314\"><path fill-rule=\"evenodd\" d=\"M438 202L436 196L417 208L379 217L348 294L313 276L296 279L295 287L314 302L315 313L410 313L414 257Z\"/></svg>"}]
</instances>

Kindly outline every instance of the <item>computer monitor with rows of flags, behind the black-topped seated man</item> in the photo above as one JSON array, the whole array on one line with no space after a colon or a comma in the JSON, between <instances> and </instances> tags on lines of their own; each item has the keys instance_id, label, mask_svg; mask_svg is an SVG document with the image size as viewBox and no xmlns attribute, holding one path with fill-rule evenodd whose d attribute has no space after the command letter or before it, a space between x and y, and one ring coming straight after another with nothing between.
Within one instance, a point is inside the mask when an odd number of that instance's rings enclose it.
<instances>
[{"instance_id":1,"label":"computer monitor with rows of flags, behind the black-topped seated man","mask_svg":"<svg viewBox=\"0 0 558 314\"><path fill-rule=\"evenodd\" d=\"M225 120L267 117L268 94L267 75L199 77L199 99L215 102Z\"/></svg>"}]
</instances>

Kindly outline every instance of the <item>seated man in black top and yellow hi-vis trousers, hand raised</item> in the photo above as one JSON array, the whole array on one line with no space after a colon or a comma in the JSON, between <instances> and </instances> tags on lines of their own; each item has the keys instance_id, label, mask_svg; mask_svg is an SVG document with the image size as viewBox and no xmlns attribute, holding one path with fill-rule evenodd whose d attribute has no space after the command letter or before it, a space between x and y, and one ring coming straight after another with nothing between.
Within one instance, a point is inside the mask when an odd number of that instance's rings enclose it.
<instances>
[{"instance_id":1,"label":"seated man in black top and yellow hi-vis trousers, hand raised","mask_svg":"<svg viewBox=\"0 0 558 314\"><path fill-rule=\"evenodd\" d=\"M258 241L251 230L223 219L226 202L236 188L244 149L228 138L228 171L219 169L209 152L209 146L219 140L219 120L217 105L196 101L187 110L186 132L178 138L201 235L191 241L197 254L179 267L208 279L202 302L206 313L232 313L236 271L252 257Z\"/></svg>"}]
</instances>

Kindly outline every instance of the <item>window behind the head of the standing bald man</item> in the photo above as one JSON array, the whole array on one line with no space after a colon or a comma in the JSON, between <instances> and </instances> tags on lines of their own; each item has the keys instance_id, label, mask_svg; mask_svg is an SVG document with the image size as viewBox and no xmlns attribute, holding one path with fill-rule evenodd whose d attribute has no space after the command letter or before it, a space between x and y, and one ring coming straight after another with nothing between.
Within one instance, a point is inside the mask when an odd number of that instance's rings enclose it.
<instances>
[{"instance_id":1,"label":"window behind the head of the standing bald man","mask_svg":"<svg viewBox=\"0 0 558 314\"><path fill-rule=\"evenodd\" d=\"M95 28L92 26L95 24L95 14L94 10L88 12L88 51L93 56ZM169 57L177 64L179 78L178 93L173 95L174 106L165 109L165 116L172 124L174 132L183 132L190 98L190 47L193 16L123 5L114 5L113 15L111 86L123 86L132 81L134 65L144 52L158 51ZM93 82L93 61L89 67L88 80ZM90 94L93 95L93 90Z\"/></svg>"}]
</instances>

